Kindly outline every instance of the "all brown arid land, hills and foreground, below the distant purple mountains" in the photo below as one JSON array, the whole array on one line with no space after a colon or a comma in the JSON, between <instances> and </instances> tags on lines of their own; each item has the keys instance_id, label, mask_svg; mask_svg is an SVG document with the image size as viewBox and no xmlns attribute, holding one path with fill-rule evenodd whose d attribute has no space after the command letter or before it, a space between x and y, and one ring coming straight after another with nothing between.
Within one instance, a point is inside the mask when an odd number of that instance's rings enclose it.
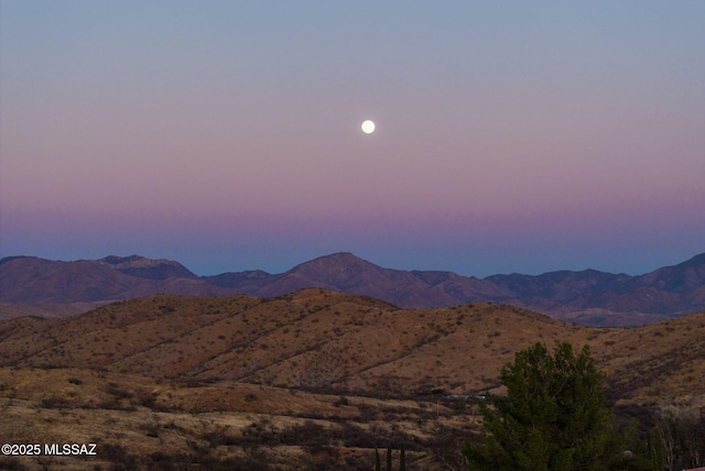
<instances>
[{"instance_id":1,"label":"all brown arid land, hills and foreground, below the distant purple mountains","mask_svg":"<svg viewBox=\"0 0 705 471\"><path fill-rule=\"evenodd\" d=\"M97 446L0 464L370 469L375 448L404 443L409 469L447 469L479 430L478 397L501 392L501 366L563 340L590 346L622 423L705 406L705 313L587 328L505 305L401 309L317 288L156 295L0 322L4 442Z\"/></svg>"}]
</instances>

